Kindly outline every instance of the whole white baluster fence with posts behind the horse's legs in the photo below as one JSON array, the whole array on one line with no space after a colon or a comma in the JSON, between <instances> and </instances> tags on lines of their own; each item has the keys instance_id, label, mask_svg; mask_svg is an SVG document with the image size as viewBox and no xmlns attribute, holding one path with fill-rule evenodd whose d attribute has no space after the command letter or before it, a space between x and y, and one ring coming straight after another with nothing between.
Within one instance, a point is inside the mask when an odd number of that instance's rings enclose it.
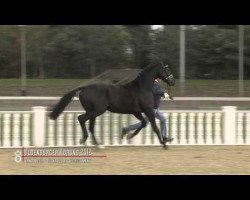
<instances>
[{"instance_id":1,"label":"whole white baluster fence with posts behind the horse's legs","mask_svg":"<svg viewBox=\"0 0 250 200\"><path fill-rule=\"evenodd\" d=\"M0 147L75 146L82 137L77 116L65 111L50 120L46 107L32 111L0 111ZM221 110L164 110L172 145L250 145L250 111L225 106ZM97 117L95 135L104 145L159 145L151 125L135 138L120 140L122 127L138 122L132 115L106 112ZM160 122L157 120L158 127ZM86 123L88 128L88 122ZM91 134L86 145L92 144Z\"/></svg>"}]
</instances>

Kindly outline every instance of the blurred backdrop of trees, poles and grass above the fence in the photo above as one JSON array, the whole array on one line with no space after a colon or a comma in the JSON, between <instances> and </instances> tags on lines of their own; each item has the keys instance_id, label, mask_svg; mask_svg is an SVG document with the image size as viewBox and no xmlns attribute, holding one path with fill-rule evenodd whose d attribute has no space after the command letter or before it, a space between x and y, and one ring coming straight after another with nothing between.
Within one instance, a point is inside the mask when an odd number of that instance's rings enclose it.
<instances>
[{"instance_id":1,"label":"blurred backdrop of trees, poles and grass above the fence","mask_svg":"<svg viewBox=\"0 0 250 200\"><path fill-rule=\"evenodd\" d=\"M176 97L250 96L250 25L0 25L0 96L61 96L152 55Z\"/></svg>"}]
</instances>

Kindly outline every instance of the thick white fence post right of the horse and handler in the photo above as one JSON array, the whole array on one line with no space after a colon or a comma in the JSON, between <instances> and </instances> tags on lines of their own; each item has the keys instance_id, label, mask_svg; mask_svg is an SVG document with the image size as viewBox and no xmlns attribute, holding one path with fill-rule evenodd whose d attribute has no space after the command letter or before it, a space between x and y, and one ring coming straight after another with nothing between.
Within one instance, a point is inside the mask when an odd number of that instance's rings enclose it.
<instances>
[{"instance_id":1,"label":"thick white fence post right of the horse and handler","mask_svg":"<svg viewBox=\"0 0 250 200\"><path fill-rule=\"evenodd\" d=\"M236 106L223 106L223 135L224 143L228 145L236 144Z\"/></svg>"}]
</instances>

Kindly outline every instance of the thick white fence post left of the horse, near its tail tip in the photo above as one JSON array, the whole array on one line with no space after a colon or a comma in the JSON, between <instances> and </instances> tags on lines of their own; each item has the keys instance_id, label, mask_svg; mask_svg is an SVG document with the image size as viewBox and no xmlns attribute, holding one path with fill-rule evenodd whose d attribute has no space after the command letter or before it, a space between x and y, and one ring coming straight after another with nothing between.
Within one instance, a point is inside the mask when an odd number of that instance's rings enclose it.
<instances>
[{"instance_id":1,"label":"thick white fence post left of the horse, near its tail tip","mask_svg":"<svg viewBox=\"0 0 250 200\"><path fill-rule=\"evenodd\" d=\"M46 107L32 107L34 146L44 146L46 128Z\"/></svg>"}]
</instances>

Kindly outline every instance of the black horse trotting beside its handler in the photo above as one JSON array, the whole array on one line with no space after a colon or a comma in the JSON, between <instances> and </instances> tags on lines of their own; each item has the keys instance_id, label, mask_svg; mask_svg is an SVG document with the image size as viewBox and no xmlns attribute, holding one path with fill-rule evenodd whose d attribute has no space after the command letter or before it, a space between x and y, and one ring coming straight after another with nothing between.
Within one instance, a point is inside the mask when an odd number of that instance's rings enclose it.
<instances>
[{"instance_id":1,"label":"black horse trotting beside its handler","mask_svg":"<svg viewBox=\"0 0 250 200\"><path fill-rule=\"evenodd\" d=\"M114 113L133 114L142 122L141 127L130 138L134 137L146 126L142 116L142 113L144 113L148 117L160 143L167 148L166 142L163 142L155 122L152 91L156 78L166 82L168 87L175 84L174 76L168 65L164 65L162 62L151 63L133 81L124 85L91 84L73 89L65 94L51 109L52 112L50 112L49 117L53 120L57 119L76 93L80 91L79 100L86 111L85 114L78 116L78 121L83 131L83 138L80 140L80 143L85 143L88 138L85 122L89 120L89 131L92 134L94 144L98 145L94 135L95 119L108 110Z\"/></svg>"}]
</instances>

